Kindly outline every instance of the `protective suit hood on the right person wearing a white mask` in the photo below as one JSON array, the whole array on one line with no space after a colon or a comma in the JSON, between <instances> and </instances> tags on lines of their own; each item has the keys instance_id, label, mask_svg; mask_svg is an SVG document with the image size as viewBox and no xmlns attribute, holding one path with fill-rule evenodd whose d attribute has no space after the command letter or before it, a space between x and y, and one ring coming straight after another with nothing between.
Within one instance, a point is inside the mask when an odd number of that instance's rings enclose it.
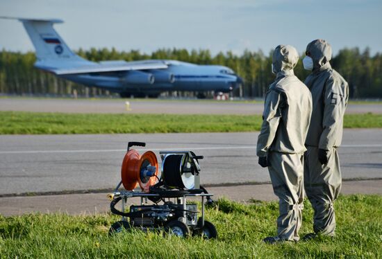
<instances>
[{"instance_id":1,"label":"protective suit hood on the right person wearing a white mask","mask_svg":"<svg viewBox=\"0 0 382 259\"><path fill-rule=\"evenodd\" d=\"M313 71L322 66L329 66L332 50L331 45L324 39L315 39L306 46L306 53L313 59Z\"/></svg>"}]
</instances>

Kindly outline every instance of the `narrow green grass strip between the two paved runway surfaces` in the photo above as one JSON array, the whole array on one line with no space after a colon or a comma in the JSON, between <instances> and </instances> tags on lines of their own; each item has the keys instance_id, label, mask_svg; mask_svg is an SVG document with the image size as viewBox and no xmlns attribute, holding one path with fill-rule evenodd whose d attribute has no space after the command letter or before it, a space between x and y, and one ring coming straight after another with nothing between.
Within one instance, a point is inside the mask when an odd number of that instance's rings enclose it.
<instances>
[{"instance_id":1,"label":"narrow green grass strip between the two paved runway surfaces","mask_svg":"<svg viewBox=\"0 0 382 259\"><path fill-rule=\"evenodd\" d=\"M0 111L0 134L252 132L260 115L60 114ZM344 127L382 127L382 114L345 115Z\"/></svg>"}]
</instances>

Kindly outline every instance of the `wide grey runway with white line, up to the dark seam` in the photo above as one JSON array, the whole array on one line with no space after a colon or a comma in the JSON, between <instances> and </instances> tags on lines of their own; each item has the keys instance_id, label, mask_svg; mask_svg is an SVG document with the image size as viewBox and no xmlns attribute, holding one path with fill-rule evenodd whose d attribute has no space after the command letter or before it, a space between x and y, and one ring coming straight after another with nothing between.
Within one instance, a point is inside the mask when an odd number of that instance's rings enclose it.
<instances>
[{"instance_id":1,"label":"wide grey runway with white line, up to the dark seam","mask_svg":"<svg viewBox=\"0 0 382 259\"><path fill-rule=\"evenodd\" d=\"M1 135L0 195L113 188L128 141L145 150L193 150L202 184L267 182L255 156L258 133ZM139 149L140 153L144 150ZM344 130L344 179L382 177L382 130ZM382 188L382 186L381 186Z\"/></svg>"}]
</instances>

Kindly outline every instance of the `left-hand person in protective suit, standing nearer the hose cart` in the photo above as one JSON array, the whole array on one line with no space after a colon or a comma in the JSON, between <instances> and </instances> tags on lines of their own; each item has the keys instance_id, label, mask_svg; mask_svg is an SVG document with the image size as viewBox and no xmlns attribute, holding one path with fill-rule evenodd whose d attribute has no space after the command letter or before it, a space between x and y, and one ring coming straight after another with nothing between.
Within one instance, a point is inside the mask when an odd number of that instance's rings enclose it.
<instances>
[{"instance_id":1,"label":"left-hand person in protective suit, standing nearer the hose cart","mask_svg":"<svg viewBox=\"0 0 382 259\"><path fill-rule=\"evenodd\" d=\"M293 73L299 54L279 45L272 57L276 80L265 96L263 125L258 136L260 166L268 167L274 194L279 197L277 235L264 242L299 240L304 201L304 152L312 112L309 89Z\"/></svg>"}]
</instances>

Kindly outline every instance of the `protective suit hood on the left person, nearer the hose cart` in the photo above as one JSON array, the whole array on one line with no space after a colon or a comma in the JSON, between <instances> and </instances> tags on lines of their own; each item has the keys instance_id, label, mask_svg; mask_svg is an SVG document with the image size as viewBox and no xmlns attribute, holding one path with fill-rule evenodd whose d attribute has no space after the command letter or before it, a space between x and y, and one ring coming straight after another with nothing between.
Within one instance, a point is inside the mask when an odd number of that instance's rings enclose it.
<instances>
[{"instance_id":1,"label":"protective suit hood on the left person, nearer the hose cart","mask_svg":"<svg viewBox=\"0 0 382 259\"><path fill-rule=\"evenodd\" d=\"M290 45L276 46L272 56L273 70L275 73L293 70L299 61L299 53Z\"/></svg>"}]
</instances>

